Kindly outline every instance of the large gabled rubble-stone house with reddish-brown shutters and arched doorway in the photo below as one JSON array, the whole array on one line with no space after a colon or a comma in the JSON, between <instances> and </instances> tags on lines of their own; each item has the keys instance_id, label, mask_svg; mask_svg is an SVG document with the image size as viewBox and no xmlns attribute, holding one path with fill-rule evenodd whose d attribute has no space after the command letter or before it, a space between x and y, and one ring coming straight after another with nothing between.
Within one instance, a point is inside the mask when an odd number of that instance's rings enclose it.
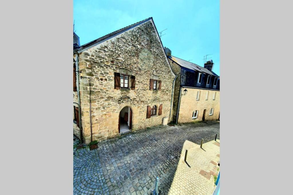
<instances>
[{"instance_id":1,"label":"large gabled rubble-stone house with reddish-brown shutters and arched doorway","mask_svg":"<svg viewBox=\"0 0 293 195\"><path fill-rule=\"evenodd\" d=\"M79 124L88 144L169 122L176 75L152 18L74 44L76 136Z\"/></svg>"}]
</instances>

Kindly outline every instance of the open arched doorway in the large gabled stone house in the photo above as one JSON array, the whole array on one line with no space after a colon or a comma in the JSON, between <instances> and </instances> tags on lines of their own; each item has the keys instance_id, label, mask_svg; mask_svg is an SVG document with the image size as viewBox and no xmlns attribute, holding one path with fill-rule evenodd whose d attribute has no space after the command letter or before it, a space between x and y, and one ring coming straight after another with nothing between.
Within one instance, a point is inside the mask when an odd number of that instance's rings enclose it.
<instances>
[{"instance_id":1,"label":"open arched doorway in the large gabled stone house","mask_svg":"<svg viewBox=\"0 0 293 195\"><path fill-rule=\"evenodd\" d=\"M118 123L119 133L128 132L132 129L132 109L125 106L119 113Z\"/></svg>"}]
</instances>

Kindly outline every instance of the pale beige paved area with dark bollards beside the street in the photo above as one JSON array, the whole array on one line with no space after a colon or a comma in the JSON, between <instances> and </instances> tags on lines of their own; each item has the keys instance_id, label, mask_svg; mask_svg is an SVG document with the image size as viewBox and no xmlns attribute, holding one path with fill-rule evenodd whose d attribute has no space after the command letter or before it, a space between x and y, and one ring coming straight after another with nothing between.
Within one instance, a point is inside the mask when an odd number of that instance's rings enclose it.
<instances>
[{"instance_id":1,"label":"pale beige paved area with dark bollards beside the street","mask_svg":"<svg viewBox=\"0 0 293 195\"><path fill-rule=\"evenodd\" d=\"M219 142L209 141L201 149L200 145L185 141L169 194L213 194L214 175L219 172ZM184 161L185 150L190 167Z\"/></svg>"}]
</instances>

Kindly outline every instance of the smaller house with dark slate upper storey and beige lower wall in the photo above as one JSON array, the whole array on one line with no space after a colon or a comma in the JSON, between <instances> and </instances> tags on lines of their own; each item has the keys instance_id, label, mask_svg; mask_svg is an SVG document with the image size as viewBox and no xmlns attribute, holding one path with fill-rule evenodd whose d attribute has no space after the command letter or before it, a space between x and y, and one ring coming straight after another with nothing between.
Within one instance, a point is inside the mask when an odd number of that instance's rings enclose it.
<instances>
[{"instance_id":1,"label":"smaller house with dark slate upper storey and beige lower wall","mask_svg":"<svg viewBox=\"0 0 293 195\"><path fill-rule=\"evenodd\" d=\"M173 122L219 120L220 78L212 71L212 60L201 67L171 56L171 50L166 47L165 51L178 77L174 89Z\"/></svg>"}]
</instances>

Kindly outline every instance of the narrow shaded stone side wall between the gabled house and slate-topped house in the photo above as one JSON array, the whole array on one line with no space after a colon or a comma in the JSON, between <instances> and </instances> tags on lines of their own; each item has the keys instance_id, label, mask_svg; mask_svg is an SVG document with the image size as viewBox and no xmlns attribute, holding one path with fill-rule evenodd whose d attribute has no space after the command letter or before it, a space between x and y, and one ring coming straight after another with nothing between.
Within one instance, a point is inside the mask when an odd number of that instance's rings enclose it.
<instances>
[{"instance_id":1,"label":"narrow shaded stone side wall between the gabled house and slate-topped house","mask_svg":"<svg viewBox=\"0 0 293 195\"><path fill-rule=\"evenodd\" d=\"M176 122L179 93L180 93L181 67L170 59L168 59L168 61L171 65L173 72L177 76L175 80L175 84L174 84L174 94L173 94L174 98L173 98L173 111L172 111L172 121Z\"/></svg>"}]
</instances>

